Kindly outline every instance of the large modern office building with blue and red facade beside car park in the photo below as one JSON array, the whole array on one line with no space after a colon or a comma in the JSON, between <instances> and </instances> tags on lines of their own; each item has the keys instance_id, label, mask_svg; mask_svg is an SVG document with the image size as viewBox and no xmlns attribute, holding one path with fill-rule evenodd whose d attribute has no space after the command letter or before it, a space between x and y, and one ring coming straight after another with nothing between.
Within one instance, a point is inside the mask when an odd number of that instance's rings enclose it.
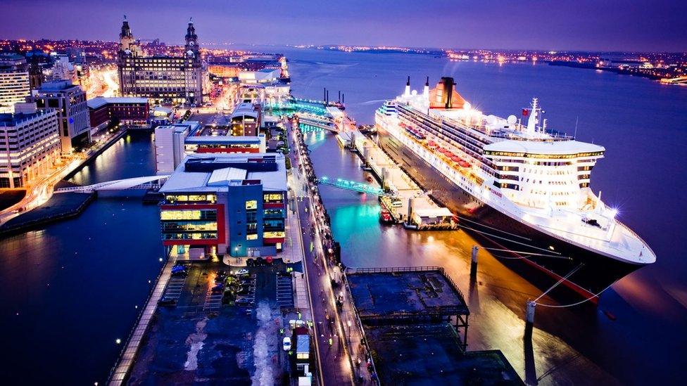
<instances>
[{"instance_id":1,"label":"large modern office building with blue and red facade beside car park","mask_svg":"<svg viewBox=\"0 0 687 386\"><path fill-rule=\"evenodd\" d=\"M284 155L189 155L160 193L163 245L171 255L265 257L282 250Z\"/></svg>"}]
</instances>

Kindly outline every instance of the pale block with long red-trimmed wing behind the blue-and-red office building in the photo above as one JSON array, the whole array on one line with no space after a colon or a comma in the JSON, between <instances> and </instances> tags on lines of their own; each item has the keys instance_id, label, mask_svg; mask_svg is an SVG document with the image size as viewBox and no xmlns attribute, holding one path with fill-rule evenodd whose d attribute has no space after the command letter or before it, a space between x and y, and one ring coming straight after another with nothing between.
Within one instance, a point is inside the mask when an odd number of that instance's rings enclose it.
<instances>
[{"instance_id":1,"label":"pale block with long red-trimmed wing behind the blue-and-red office building","mask_svg":"<svg viewBox=\"0 0 687 386\"><path fill-rule=\"evenodd\" d=\"M155 161L158 174L172 173L191 154L265 153L265 135L232 136L227 125L187 121L155 128Z\"/></svg>"}]
</instances>

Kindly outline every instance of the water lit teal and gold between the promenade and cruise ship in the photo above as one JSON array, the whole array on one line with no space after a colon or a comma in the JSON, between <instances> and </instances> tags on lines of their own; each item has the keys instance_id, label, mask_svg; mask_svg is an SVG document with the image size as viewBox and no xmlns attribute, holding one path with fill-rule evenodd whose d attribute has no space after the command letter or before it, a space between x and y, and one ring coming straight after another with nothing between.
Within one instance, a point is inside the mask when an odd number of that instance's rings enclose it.
<instances>
[{"instance_id":1,"label":"water lit teal and gold between the promenade and cruise ship","mask_svg":"<svg viewBox=\"0 0 687 386\"><path fill-rule=\"evenodd\" d=\"M341 148L331 134L305 135L317 174L365 181L357 155ZM379 202L373 195L321 186L322 198L332 219L334 238L341 243L343 263L354 267L443 266L465 295L470 307L470 350L500 349L525 378L523 345L524 304L541 294L488 252L479 253L477 281L470 282L469 256L476 242L463 231L406 231L402 226L379 223ZM547 298L544 301L554 303ZM584 383L590 379L615 382L588 359L579 356L559 338L536 329L533 337L534 367L548 369L575 361L548 380ZM531 356L532 357L532 356Z\"/></svg>"}]
</instances>

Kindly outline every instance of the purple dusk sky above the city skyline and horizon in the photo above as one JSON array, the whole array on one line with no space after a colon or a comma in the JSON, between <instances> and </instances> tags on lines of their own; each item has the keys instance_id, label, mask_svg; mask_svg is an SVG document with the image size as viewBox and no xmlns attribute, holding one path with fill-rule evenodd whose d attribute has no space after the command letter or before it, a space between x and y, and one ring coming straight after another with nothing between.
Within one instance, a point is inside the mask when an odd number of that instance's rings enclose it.
<instances>
[{"instance_id":1,"label":"purple dusk sky above the city skyline and horizon","mask_svg":"<svg viewBox=\"0 0 687 386\"><path fill-rule=\"evenodd\" d=\"M329 4L329 3L332 4ZM326 4L326 5L324 5ZM687 51L687 0L0 0L0 37Z\"/></svg>"}]
</instances>

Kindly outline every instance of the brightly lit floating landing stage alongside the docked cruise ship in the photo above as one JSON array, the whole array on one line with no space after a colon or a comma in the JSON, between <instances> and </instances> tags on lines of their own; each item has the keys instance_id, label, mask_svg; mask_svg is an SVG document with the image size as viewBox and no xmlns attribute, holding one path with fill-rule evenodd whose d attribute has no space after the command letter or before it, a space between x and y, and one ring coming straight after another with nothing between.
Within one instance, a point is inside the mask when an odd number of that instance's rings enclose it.
<instances>
[{"instance_id":1,"label":"brightly lit floating landing stage alongside the docked cruise ship","mask_svg":"<svg viewBox=\"0 0 687 386\"><path fill-rule=\"evenodd\" d=\"M363 162L363 168L368 169L383 188L388 188L396 193L396 197L393 199L388 197L380 198L380 202L389 210L391 217L396 222L408 223L410 214L413 219L410 222L415 222L415 224L409 227L410 229L456 229L454 224L445 221L452 217L450 211L431 200L429 193L424 192L420 186L415 184L415 181L389 155L386 155L384 150L379 148L372 139L364 136L358 130L343 132L336 138L342 146L358 153L360 160ZM411 206L412 210L409 211ZM430 220L417 224L418 217ZM434 220L431 220L431 218L434 218ZM436 221L436 219L439 219L439 221ZM441 221L442 219L444 221Z\"/></svg>"}]
</instances>

